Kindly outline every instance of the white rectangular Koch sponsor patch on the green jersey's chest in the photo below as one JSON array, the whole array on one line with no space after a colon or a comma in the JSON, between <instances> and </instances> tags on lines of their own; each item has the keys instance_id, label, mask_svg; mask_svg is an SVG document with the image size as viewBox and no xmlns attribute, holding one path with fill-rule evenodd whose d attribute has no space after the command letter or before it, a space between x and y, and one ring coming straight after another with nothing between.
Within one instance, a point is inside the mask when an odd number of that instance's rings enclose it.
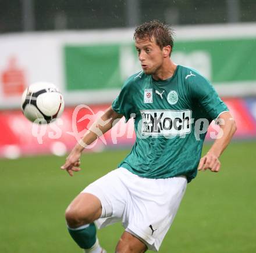
<instances>
[{"instance_id":1,"label":"white rectangular Koch sponsor patch on the green jersey's chest","mask_svg":"<svg viewBox=\"0 0 256 253\"><path fill-rule=\"evenodd\" d=\"M141 110L142 135L184 135L191 132L191 110Z\"/></svg>"}]
</instances>

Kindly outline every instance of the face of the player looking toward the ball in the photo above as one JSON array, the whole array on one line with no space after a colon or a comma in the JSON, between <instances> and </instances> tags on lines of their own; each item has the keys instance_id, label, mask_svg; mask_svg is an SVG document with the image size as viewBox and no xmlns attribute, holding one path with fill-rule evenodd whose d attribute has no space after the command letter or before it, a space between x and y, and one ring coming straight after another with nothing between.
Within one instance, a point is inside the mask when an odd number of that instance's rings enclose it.
<instances>
[{"instance_id":1,"label":"face of the player looking toward the ball","mask_svg":"<svg viewBox=\"0 0 256 253\"><path fill-rule=\"evenodd\" d=\"M136 39L135 46L138 52L138 59L145 74L157 74L163 64L163 52L155 42L155 38Z\"/></svg>"}]
</instances>

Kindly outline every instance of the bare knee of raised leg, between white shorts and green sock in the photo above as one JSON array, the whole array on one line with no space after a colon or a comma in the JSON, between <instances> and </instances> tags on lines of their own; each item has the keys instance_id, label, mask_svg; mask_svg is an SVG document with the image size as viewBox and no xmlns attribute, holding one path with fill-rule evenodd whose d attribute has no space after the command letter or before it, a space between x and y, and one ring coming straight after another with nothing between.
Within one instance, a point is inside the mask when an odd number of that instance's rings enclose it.
<instances>
[{"instance_id":1,"label":"bare knee of raised leg, between white shorts and green sock","mask_svg":"<svg viewBox=\"0 0 256 253\"><path fill-rule=\"evenodd\" d=\"M91 223L101 216L101 201L90 193L80 193L66 209L66 220L72 227Z\"/></svg>"}]
</instances>

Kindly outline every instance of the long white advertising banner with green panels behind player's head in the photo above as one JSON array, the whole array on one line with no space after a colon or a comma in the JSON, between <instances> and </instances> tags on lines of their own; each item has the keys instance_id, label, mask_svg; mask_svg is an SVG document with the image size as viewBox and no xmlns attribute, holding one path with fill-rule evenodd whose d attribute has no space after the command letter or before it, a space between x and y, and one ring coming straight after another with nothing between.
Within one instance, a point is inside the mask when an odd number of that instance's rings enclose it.
<instances>
[{"instance_id":1,"label":"long white advertising banner with green panels behind player's head","mask_svg":"<svg viewBox=\"0 0 256 253\"><path fill-rule=\"evenodd\" d=\"M0 109L18 108L26 86L39 81L58 86L70 106L111 103L123 81L141 70L133 32L0 35ZM175 27L175 32L177 64L200 71L221 96L256 95L256 24Z\"/></svg>"}]
</instances>

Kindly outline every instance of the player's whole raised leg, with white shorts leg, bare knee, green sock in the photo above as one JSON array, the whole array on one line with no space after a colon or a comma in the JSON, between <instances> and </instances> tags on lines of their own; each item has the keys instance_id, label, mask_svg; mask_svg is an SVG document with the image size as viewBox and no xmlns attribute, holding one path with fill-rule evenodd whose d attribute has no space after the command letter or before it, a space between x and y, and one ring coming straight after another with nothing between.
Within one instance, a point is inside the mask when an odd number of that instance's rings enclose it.
<instances>
[{"instance_id":1,"label":"player's whole raised leg, with white shorts leg, bare knee, green sock","mask_svg":"<svg viewBox=\"0 0 256 253\"><path fill-rule=\"evenodd\" d=\"M88 185L67 208L69 232L81 248L88 247L88 243L91 245L96 240L95 225L91 222L95 221L100 229L122 220L127 189L120 180L120 175L122 170L115 169L102 176Z\"/></svg>"}]
</instances>

